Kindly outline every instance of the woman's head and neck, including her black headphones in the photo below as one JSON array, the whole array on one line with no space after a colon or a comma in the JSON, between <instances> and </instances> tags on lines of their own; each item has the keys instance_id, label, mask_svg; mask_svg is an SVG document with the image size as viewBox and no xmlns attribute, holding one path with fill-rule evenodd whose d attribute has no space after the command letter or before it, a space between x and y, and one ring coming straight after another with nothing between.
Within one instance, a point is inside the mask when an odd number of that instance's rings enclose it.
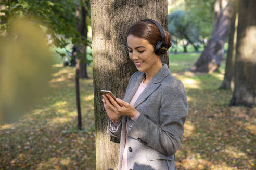
<instances>
[{"instance_id":1,"label":"woman's head and neck, including her black headphones","mask_svg":"<svg viewBox=\"0 0 256 170\"><path fill-rule=\"evenodd\" d=\"M170 47L169 33L154 20L141 20L130 28L127 36L129 57L140 72L146 73L145 84L162 67L160 55Z\"/></svg>"}]
</instances>

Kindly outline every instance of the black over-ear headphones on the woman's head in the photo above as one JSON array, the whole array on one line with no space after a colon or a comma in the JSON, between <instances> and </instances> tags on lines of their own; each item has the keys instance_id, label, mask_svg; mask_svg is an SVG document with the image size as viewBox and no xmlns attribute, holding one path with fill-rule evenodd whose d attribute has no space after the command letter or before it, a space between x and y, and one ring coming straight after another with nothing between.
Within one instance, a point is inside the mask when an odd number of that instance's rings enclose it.
<instances>
[{"instance_id":1,"label":"black over-ear headphones on the woman's head","mask_svg":"<svg viewBox=\"0 0 256 170\"><path fill-rule=\"evenodd\" d=\"M154 52L156 55L166 54L168 48L167 48L167 44L165 43L165 34L164 34L164 30L163 30L162 26L157 21L152 20L152 19L144 19L142 21L150 21L150 22L154 23L155 25L157 25L159 31L161 32L162 40L157 42Z\"/></svg>"}]
</instances>

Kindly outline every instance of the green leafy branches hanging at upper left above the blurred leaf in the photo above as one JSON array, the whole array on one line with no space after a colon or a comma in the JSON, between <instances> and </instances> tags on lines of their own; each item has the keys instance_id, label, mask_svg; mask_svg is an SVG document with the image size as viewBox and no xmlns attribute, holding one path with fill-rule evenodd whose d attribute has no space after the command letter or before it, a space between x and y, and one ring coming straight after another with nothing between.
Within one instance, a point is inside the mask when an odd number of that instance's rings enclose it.
<instances>
[{"instance_id":1,"label":"green leafy branches hanging at upper left above the blurred leaf","mask_svg":"<svg viewBox=\"0 0 256 170\"><path fill-rule=\"evenodd\" d=\"M47 35L50 35L53 40L53 43L50 45L65 49L70 43L88 45L90 42L76 29L75 20L75 5L83 5L86 2L87 0L81 0L81 2L72 0L0 1L0 35L7 35L7 38L8 36L10 37L11 35L7 33L12 20L26 15L36 18L37 20L33 21L35 25L43 29ZM71 57L71 52L67 49L67 53L56 52L62 57L66 55Z\"/></svg>"}]
</instances>

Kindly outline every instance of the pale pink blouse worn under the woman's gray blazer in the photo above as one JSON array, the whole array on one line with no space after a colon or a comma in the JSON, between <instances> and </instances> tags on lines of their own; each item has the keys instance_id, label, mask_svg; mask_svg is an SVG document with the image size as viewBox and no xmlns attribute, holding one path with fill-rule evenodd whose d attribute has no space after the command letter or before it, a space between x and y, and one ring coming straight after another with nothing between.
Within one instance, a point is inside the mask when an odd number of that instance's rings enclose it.
<instances>
[{"instance_id":1,"label":"pale pink blouse worn under the woman's gray blazer","mask_svg":"<svg viewBox=\"0 0 256 170\"><path fill-rule=\"evenodd\" d=\"M146 84L143 83L144 79L142 80L142 83L140 83L136 93L134 94L130 104L131 105L134 105L134 103L136 102L137 98L139 97L139 95L143 92L143 90L146 88ZM132 117L131 119L133 121L136 121L137 118L139 117L140 113L137 112L137 114ZM112 123L114 124L115 127L117 127L120 123L121 123L121 120L117 121L117 122L113 122ZM127 146L127 139L128 139L128 136L127 136L127 133L128 133L128 123L126 122L126 140L125 140L125 146L124 146L124 152L123 152L123 158L122 158L122 170L127 170L128 169L128 166L127 166L127 157L128 157L128 146Z\"/></svg>"}]
</instances>

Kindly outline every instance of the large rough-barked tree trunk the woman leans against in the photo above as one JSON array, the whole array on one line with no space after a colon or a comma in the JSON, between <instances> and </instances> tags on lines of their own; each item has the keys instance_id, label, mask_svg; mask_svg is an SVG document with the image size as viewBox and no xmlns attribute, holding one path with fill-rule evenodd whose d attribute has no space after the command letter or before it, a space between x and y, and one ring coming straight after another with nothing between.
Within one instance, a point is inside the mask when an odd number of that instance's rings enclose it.
<instances>
[{"instance_id":1,"label":"large rough-barked tree trunk the woman leans against","mask_svg":"<svg viewBox=\"0 0 256 170\"><path fill-rule=\"evenodd\" d=\"M167 29L167 1L91 1L96 169L117 169L118 143L107 134L108 116L100 90L123 98L131 75L137 70L125 48L126 34L136 21L151 18ZM169 66L168 56L162 62Z\"/></svg>"}]
</instances>

